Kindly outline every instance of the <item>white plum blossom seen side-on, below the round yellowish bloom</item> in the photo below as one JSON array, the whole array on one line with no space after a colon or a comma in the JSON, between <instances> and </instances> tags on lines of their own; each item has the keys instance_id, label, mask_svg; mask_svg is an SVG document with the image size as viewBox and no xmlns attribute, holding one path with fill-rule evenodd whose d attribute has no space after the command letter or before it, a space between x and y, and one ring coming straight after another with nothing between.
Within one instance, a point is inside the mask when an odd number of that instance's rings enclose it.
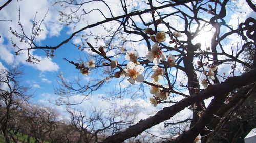
<instances>
[{"instance_id":1,"label":"white plum blossom seen side-on, below the round yellowish bloom","mask_svg":"<svg viewBox=\"0 0 256 143\"><path fill-rule=\"evenodd\" d=\"M158 65L160 63L160 59L163 61L166 60L165 57L166 55L161 51L158 43L152 45L151 50L148 51L146 55L146 59L150 60L155 65Z\"/></svg>"}]
</instances>

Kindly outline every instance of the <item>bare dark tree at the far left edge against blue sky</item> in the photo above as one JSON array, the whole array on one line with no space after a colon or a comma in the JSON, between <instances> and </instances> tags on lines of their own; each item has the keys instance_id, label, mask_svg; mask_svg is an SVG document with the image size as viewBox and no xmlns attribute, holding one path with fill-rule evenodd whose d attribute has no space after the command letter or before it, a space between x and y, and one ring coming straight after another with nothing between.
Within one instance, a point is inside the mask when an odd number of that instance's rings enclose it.
<instances>
[{"instance_id":1,"label":"bare dark tree at the far left edge against blue sky","mask_svg":"<svg viewBox=\"0 0 256 143\"><path fill-rule=\"evenodd\" d=\"M7 143L11 140L17 142L10 130L14 129L17 122L17 110L31 97L29 88L19 82L22 74L19 68L0 69L0 129Z\"/></svg>"}]
</instances>

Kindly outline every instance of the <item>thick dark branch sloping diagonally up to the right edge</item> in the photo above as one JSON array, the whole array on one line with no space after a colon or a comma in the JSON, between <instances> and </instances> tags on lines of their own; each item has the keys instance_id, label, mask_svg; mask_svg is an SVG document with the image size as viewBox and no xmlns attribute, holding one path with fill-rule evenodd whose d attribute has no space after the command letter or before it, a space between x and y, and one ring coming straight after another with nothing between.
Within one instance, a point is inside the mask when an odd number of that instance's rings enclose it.
<instances>
[{"instance_id":1,"label":"thick dark branch sloping diagonally up to the right edge","mask_svg":"<svg viewBox=\"0 0 256 143\"><path fill-rule=\"evenodd\" d=\"M187 97L170 107L163 108L161 111L157 112L156 115L151 116L145 120L140 120L139 123L130 126L128 129L122 132L108 137L103 142L123 142L130 137L139 135L146 129L151 128L152 126L155 126L165 120L170 119L170 117L173 117L174 115L176 115L176 113L180 112L185 107L188 107L195 102L207 99L212 96L225 95L225 93L228 93L236 88L240 88L255 81L256 69L252 69L249 72L244 73L240 76L230 77L225 82L222 82L220 84L209 85L207 89L202 90L201 92L194 94L190 97Z\"/></svg>"}]
</instances>

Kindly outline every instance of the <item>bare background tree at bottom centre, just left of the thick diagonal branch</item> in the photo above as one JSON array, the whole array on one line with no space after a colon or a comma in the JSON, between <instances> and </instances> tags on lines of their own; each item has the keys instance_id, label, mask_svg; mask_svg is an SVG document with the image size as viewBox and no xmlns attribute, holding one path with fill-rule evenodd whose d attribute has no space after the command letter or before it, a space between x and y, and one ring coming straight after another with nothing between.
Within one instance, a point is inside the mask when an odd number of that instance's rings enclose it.
<instances>
[{"instance_id":1,"label":"bare background tree at bottom centre, just left of the thick diagonal branch","mask_svg":"<svg viewBox=\"0 0 256 143\"><path fill-rule=\"evenodd\" d=\"M134 118L123 121L123 114L129 114L125 110L114 113L104 112L94 107L88 111L76 111L68 109L71 116L71 124L79 134L77 142L101 142L109 135L119 132L122 128L131 125ZM130 115L135 116L135 115Z\"/></svg>"}]
</instances>

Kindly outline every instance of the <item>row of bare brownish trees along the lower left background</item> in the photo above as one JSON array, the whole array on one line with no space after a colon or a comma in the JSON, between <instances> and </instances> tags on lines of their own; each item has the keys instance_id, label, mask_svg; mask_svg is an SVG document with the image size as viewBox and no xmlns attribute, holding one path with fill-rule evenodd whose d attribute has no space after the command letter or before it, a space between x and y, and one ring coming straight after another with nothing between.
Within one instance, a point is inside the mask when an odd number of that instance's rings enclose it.
<instances>
[{"instance_id":1,"label":"row of bare brownish trees along the lower left background","mask_svg":"<svg viewBox=\"0 0 256 143\"><path fill-rule=\"evenodd\" d=\"M26 135L23 142L27 143L31 140L36 143L98 142L102 139L101 132L110 129L96 130L90 126L96 122L108 123L97 111L92 111L88 118L82 111L77 115L70 110L71 119L63 121L52 108L29 104L31 89L19 82L22 74L18 68L0 70L0 132L6 143L20 142L15 137L17 133Z\"/></svg>"}]
</instances>

